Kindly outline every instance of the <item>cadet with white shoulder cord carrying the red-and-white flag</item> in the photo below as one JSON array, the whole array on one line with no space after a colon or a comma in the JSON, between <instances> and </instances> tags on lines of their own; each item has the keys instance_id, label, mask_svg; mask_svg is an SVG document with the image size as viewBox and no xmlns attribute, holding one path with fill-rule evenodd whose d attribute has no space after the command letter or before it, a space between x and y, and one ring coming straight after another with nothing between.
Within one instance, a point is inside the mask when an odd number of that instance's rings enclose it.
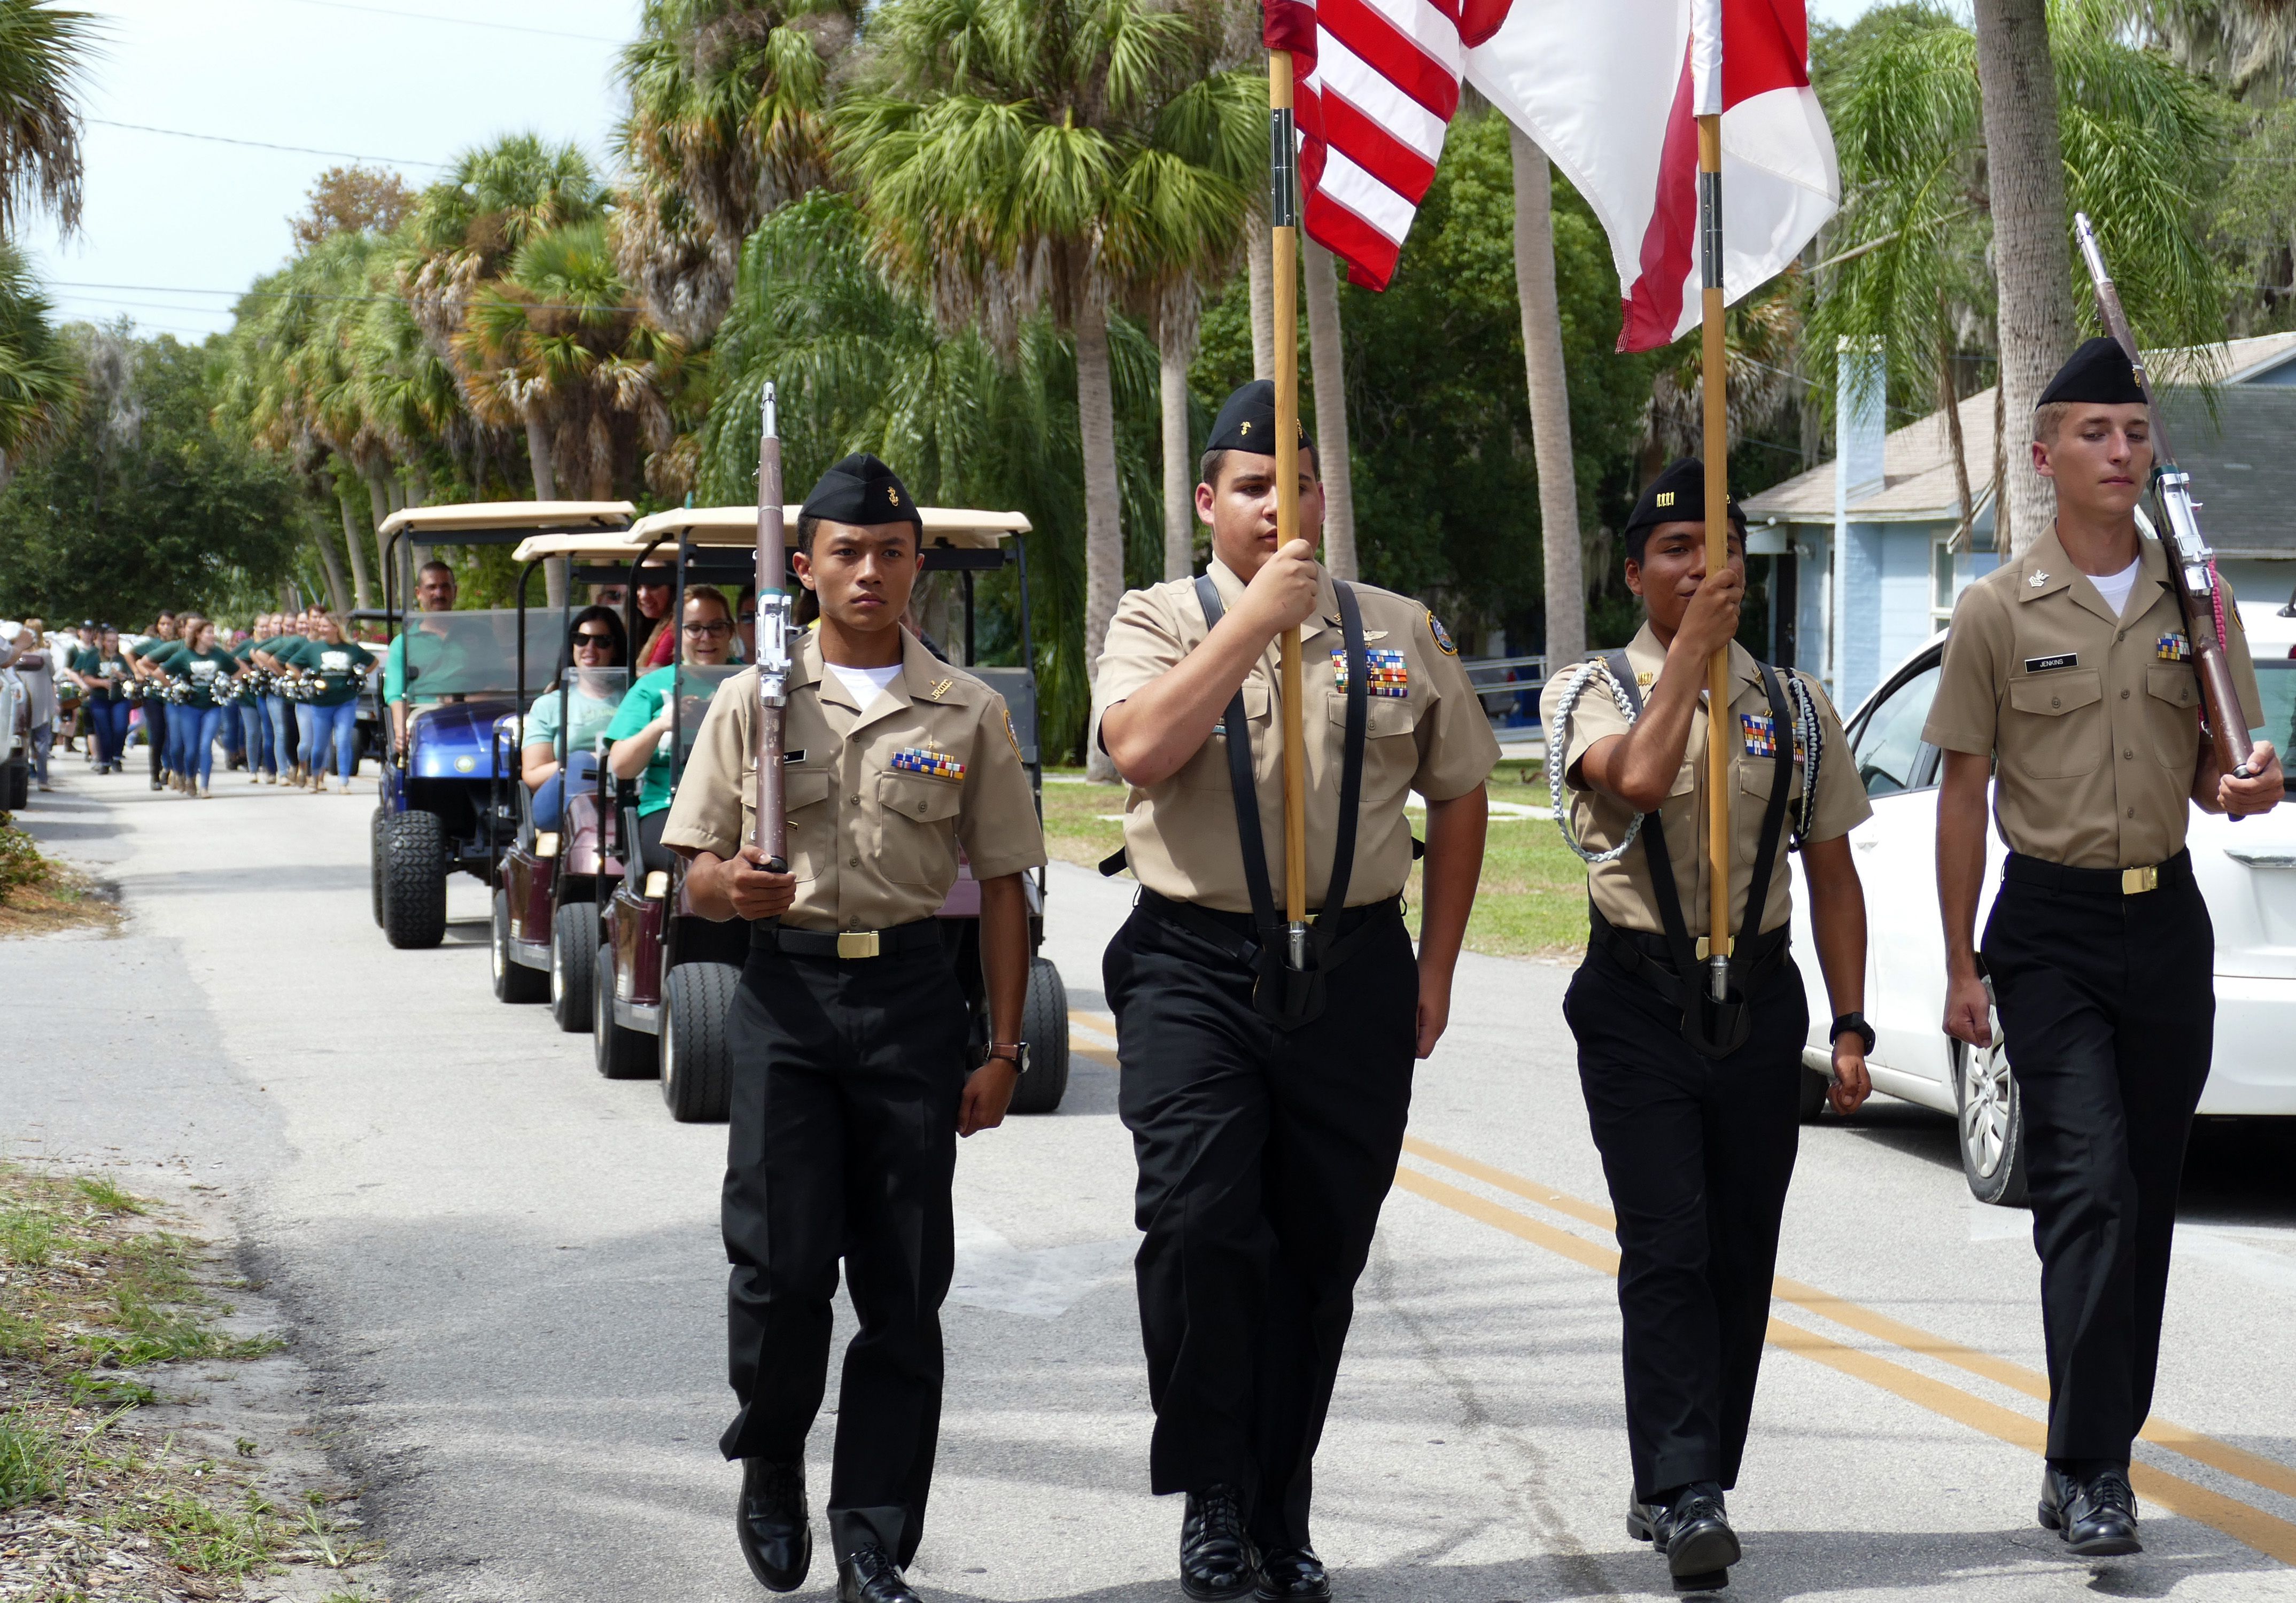
<instances>
[{"instance_id":1,"label":"cadet with white shoulder cord carrying the red-and-white flag","mask_svg":"<svg viewBox=\"0 0 2296 1603\"><path fill-rule=\"evenodd\" d=\"M1603 671L1575 664L1541 700L1548 762L1591 861L1587 962L1564 997L1580 1089L1619 1215L1628 1532L1681 1592L1729 1582L1738 1484L1770 1323L1777 1229L1800 1137L1809 1004L1786 951L1786 831L1809 873L1841 1112L1867 1098L1864 891L1848 831L1869 808L1841 723L1807 677L1731 636L1745 524L1706 572L1706 468L1676 462L1626 524L1626 583L1649 620ZM1731 661L1731 992L1706 999L1706 664ZM1575 700L1566 707L1566 700ZM1639 714L1616 705L1623 696ZM1816 776L1812 783L1812 774ZM1628 834L1639 834L1628 841ZM1761 886L1759 891L1754 886ZM1694 946L1694 942L1699 946ZM1688 1015L1685 1015L1688 1006Z\"/></svg>"}]
</instances>

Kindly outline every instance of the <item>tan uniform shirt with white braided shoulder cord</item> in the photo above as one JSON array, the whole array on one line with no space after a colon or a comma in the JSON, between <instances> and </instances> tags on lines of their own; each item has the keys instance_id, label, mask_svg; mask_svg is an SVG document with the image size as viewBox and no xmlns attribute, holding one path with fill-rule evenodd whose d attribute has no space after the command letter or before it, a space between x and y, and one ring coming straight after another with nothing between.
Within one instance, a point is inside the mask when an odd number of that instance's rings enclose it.
<instances>
[{"instance_id":1,"label":"tan uniform shirt with white braided shoulder cord","mask_svg":"<svg viewBox=\"0 0 2296 1603\"><path fill-rule=\"evenodd\" d=\"M1635 638L1628 641L1626 659L1635 668L1635 680L1644 700L1649 700L1651 684L1658 682L1658 671L1667 664L1667 650L1658 643L1658 636L1651 634L1651 625L1642 625ZM1731 684L1736 687L1731 691L1731 712L1738 719L1738 737L1729 744L1733 783L1729 808L1729 921L1731 935L1736 935L1743 928L1745 898L1754 884L1754 852L1761 850L1761 820L1770 806L1770 790L1777 785L1777 758L1763 756L1763 751L1777 751L1775 744L1766 742L1793 737L1793 700L1791 696L1786 700L1789 728L1775 728L1770 721L1770 696L1761 687L1761 671L1754 664L1754 657L1733 643L1729 648L1729 664ZM1548 680L1548 689L1538 698L1538 717L1550 733L1554 730L1554 710L1564 698L1564 682L1570 677L1573 668L1564 668ZM1809 838L1835 841L1862 824L1874 808L1867 804L1864 785L1857 783L1857 765L1851 760L1848 739L1841 735L1841 719L1835 717L1832 703L1825 700L1825 691L1821 691L1816 680L1807 673L1795 677L1809 687L1809 696L1818 710L1818 795L1809 813ZM1784 689L1784 671L1779 689ZM1577 705L1570 710L1568 749L1561 753L1554 753L1552 749L1548 751L1548 762L1559 760L1564 765L1570 829L1577 834L1580 843L1598 852L1607 852L1619 845L1628 824L1635 820L1635 811L1589 785L1580 774L1580 758L1584 758L1587 749L1598 739L1623 733L1626 719L1619 714L1619 705L1612 700L1609 689L1598 680L1587 687L1587 691L1577 698ZM1800 749L1793 753L1791 783L1793 788L1786 792L1789 831L1793 827L1795 811L1800 811L1802 785L1807 783L1807 762ZM1706 868L1704 691L1699 691L1699 705L1690 712L1690 742L1683 746L1683 765L1674 774L1674 788L1667 792L1667 799L1658 806L1658 818L1667 827L1667 857L1674 861L1674 891L1683 903L1683 926L1690 935L1706 935L1706 900L1713 877ZM1596 909L1616 928L1665 935L1667 926L1665 919L1658 916L1658 893L1651 889L1651 864L1644 854L1642 841L1607 864L1589 864L1587 893L1593 898ZM1779 841L1777 866L1770 870L1770 896L1761 914L1761 930L1775 930L1791 916L1793 868L1786 864L1786 841Z\"/></svg>"}]
</instances>

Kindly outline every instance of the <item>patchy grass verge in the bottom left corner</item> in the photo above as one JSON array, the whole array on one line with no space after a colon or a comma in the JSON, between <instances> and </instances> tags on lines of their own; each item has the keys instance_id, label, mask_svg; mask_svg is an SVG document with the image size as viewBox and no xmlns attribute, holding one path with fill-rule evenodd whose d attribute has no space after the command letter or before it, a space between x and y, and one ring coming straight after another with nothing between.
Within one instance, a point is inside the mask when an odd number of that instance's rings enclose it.
<instances>
[{"instance_id":1,"label":"patchy grass verge in the bottom left corner","mask_svg":"<svg viewBox=\"0 0 2296 1603\"><path fill-rule=\"evenodd\" d=\"M372 1557L324 1493L276 1507L255 1440L211 1458L142 1424L168 1364L280 1346L220 1325L202 1245L152 1213L106 1178L0 1164L0 1596L214 1598Z\"/></svg>"}]
</instances>

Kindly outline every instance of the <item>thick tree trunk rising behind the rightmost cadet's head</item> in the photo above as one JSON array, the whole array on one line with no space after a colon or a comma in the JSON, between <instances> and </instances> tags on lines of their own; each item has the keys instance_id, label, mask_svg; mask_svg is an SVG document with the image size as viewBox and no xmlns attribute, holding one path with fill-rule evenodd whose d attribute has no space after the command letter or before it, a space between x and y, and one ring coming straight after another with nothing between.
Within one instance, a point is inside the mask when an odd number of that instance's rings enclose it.
<instances>
[{"instance_id":1,"label":"thick tree trunk rising behind the rightmost cadet's head","mask_svg":"<svg viewBox=\"0 0 2296 1603\"><path fill-rule=\"evenodd\" d=\"M2048 0L1977 0L1977 83L2000 282L2004 434L2016 441L2078 335ZM2011 549L2025 551L2055 524L2057 505L2020 443L2007 443L2002 457L2007 482L1998 498L2009 510Z\"/></svg>"}]
</instances>

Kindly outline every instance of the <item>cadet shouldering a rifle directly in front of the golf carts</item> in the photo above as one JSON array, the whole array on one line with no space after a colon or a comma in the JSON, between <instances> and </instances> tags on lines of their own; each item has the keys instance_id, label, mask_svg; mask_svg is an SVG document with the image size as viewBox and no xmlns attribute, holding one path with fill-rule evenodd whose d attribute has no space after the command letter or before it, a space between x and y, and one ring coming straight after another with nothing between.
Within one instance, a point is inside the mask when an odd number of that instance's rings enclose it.
<instances>
[{"instance_id":1,"label":"cadet shouldering a rifle directly in front of the golf carts","mask_svg":"<svg viewBox=\"0 0 2296 1603\"><path fill-rule=\"evenodd\" d=\"M1003 698L900 627L923 524L893 471L854 455L799 514L797 574L820 627L790 673L788 873L760 866L755 668L719 687L664 845L696 912L751 921L728 1017L728 1346L739 1401L737 1527L774 1592L813 1557L806 1433L829 1366L838 1259L861 1332L845 1350L829 1539L840 1603L912 1603L941 1424L941 1298L955 1261L955 1137L1003 1121L1029 1047L1029 905L1045 861ZM934 912L957 847L980 882L985 1061Z\"/></svg>"}]
</instances>

